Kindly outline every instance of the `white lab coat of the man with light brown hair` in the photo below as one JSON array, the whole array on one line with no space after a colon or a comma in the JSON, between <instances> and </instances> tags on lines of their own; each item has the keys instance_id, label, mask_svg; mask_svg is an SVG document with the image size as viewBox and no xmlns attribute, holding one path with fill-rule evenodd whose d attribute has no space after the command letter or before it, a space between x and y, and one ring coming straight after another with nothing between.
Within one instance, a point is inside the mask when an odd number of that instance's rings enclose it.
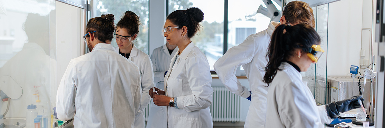
<instances>
[{"instance_id":1,"label":"white lab coat of the man with light brown hair","mask_svg":"<svg viewBox=\"0 0 385 128\"><path fill-rule=\"evenodd\" d=\"M249 80L251 103L244 128L263 128L266 116L266 94L268 88L264 83L264 67L267 65L266 53L271 34L278 22L271 22L266 30L251 34L243 43L230 48L214 64L214 69L223 85L236 95L247 98L249 90L241 85L235 76L236 69L243 66Z\"/></svg>"}]
</instances>

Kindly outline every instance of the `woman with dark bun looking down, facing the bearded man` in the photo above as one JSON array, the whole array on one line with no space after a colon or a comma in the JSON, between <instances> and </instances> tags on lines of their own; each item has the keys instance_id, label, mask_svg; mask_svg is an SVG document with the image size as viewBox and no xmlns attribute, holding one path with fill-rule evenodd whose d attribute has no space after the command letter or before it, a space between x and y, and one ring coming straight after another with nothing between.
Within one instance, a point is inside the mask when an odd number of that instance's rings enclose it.
<instances>
[{"instance_id":1,"label":"woman with dark bun looking down, facing the bearded man","mask_svg":"<svg viewBox=\"0 0 385 128\"><path fill-rule=\"evenodd\" d=\"M126 11L122 19L116 25L115 39L118 47L115 48L123 57L134 62L141 74L142 81L142 99L140 109L135 115L135 127L144 128L146 120L144 118L144 109L150 103L150 96L147 92L154 87L154 71L150 57L139 50L134 45L134 40L139 33L139 17L131 11Z\"/></svg>"}]
</instances>

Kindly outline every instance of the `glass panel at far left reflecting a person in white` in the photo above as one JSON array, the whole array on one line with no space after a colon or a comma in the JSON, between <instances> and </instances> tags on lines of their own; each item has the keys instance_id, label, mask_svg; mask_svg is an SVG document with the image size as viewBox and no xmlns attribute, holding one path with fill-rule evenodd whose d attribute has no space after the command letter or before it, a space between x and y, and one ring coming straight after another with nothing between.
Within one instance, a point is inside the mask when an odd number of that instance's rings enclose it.
<instances>
[{"instance_id":1,"label":"glass panel at far left reflecting a person in white","mask_svg":"<svg viewBox=\"0 0 385 128\"><path fill-rule=\"evenodd\" d=\"M25 126L25 119L33 120L27 108L51 118L55 76L50 74L56 58L53 10L54 0L0 1L0 113L5 115L0 123L6 127L13 121Z\"/></svg>"}]
</instances>

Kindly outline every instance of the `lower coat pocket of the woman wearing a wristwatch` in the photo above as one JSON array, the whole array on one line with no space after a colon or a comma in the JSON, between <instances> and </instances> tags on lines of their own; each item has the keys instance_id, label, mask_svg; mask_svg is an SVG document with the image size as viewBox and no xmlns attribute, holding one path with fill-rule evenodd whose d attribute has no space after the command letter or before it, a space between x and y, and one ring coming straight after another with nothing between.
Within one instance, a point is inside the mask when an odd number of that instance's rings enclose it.
<instances>
[{"instance_id":1,"label":"lower coat pocket of the woman wearing a wristwatch","mask_svg":"<svg viewBox=\"0 0 385 128\"><path fill-rule=\"evenodd\" d=\"M173 128L197 128L197 118L172 117Z\"/></svg>"}]
</instances>

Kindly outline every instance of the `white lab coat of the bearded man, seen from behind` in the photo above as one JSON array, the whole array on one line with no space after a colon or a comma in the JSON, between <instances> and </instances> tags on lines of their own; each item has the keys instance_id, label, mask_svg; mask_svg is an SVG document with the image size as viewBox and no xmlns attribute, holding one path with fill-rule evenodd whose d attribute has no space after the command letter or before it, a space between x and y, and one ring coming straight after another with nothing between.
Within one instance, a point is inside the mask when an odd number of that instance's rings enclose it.
<instances>
[{"instance_id":1,"label":"white lab coat of the bearded man, seen from behind","mask_svg":"<svg viewBox=\"0 0 385 128\"><path fill-rule=\"evenodd\" d=\"M75 115L75 128L132 128L140 85L138 66L112 45L98 43L92 52L70 61L57 90L57 117L70 120Z\"/></svg>"}]
</instances>

